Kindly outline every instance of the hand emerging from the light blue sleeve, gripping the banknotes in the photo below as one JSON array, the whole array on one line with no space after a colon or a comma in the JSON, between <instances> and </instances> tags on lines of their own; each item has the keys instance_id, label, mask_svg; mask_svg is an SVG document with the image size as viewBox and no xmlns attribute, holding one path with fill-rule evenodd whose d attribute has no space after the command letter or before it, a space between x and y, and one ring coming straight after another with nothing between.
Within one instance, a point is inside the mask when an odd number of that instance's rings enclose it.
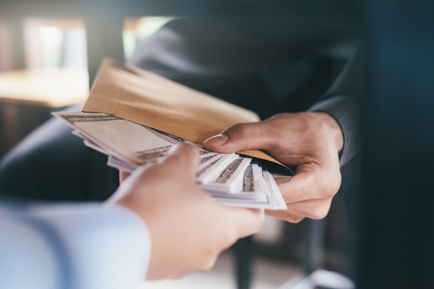
<instances>
[{"instance_id":1,"label":"hand emerging from the light blue sleeve, gripping the banknotes","mask_svg":"<svg viewBox=\"0 0 434 289\"><path fill-rule=\"evenodd\" d=\"M109 202L131 209L148 226L147 279L208 270L220 252L263 224L262 210L227 207L198 189L198 164L196 148L182 143L162 161L120 174L123 182Z\"/></svg>"}]
</instances>

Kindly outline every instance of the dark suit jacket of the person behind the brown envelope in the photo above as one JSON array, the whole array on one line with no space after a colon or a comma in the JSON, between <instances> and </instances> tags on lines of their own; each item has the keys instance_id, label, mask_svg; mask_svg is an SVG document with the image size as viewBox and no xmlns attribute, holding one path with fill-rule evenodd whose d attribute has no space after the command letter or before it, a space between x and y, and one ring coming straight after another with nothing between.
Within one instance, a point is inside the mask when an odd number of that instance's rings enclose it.
<instances>
[{"instance_id":1,"label":"dark suit jacket of the person behind the brown envelope","mask_svg":"<svg viewBox=\"0 0 434 289\"><path fill-rule=\"evenodd\" d=\"M128 61L254 110L262 119L280 112L328 112L344 132L343 165L358 152L356 105L344 85L353 74L358 35L351 7L328 3L305 9L317 2L307 1L297 11L173 19L139 43Z\"/></svg>"}]
</instances>

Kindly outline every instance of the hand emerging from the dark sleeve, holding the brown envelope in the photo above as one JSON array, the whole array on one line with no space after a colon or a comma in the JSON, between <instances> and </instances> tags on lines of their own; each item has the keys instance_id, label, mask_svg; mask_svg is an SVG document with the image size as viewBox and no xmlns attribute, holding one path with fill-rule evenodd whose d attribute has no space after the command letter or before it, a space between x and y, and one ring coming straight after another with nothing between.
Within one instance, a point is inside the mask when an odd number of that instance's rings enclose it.
<instances>
[{"instance_id":1,"label":"hand emerging from the dark sleeve, holding the brown envelope","mask_svg":"<svg viewBox=\"0 0 434 289\"><path fill-rule=\"evenodd\" d=\"M288 222L327 216L340 188L339 152L343 147L338 123L323 112L277 114L257 123L240 123L203 143L208 150L228 153L259 149L296 168L290 182L279 184L286 211L267 211Z\"/></svg>"}]
</instances>

